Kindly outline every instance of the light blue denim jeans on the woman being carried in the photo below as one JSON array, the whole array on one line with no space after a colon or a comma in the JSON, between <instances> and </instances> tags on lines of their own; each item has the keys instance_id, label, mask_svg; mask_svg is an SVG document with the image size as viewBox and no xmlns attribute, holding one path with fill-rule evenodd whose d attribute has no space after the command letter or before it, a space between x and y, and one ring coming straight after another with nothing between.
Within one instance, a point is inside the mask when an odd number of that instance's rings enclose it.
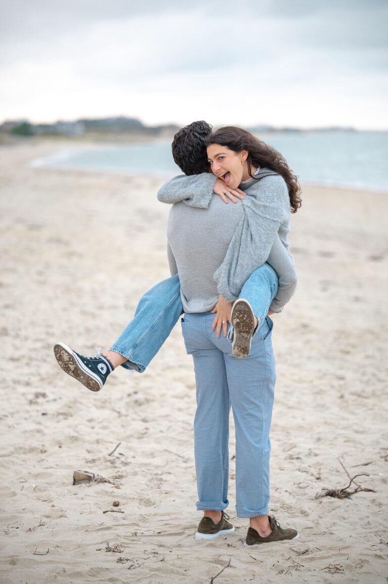
<instances>
[{"instance_id":1,"label":"light blue denim jeans on the woman being carried","mask_svg":"<svg viewBox=\"0 0 388 584\"><path fill-rule=\"evenodd\" d=\"M266 318L277 292L277 285L276 272L269 264L264 263L251 274L242 287L240 298L248 300L259 322L256 332ZM172 276L156 284L140 298L135 316L110 350L126 357L127 361L122 367L143 373L182 314L179 277ZM230 327L230 339L231 332Z\"/></svg>"}]
</instances>

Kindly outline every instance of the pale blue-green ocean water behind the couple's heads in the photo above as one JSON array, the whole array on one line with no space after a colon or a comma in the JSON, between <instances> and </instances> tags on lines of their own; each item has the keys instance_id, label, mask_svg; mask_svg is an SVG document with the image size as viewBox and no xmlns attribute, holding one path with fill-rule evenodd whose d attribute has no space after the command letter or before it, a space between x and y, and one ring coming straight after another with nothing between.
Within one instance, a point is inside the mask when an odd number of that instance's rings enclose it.
<instances>
[{"instance_id":1,"label":"pale blue-green ocean water behind the couple's heads","mask_svg":"<svg viewBox=\"0 0 388 584\"><path fill-rule=\"evenodd\" d=\"M388 192L388 132L285 132L258 137L283 154L301 183ZM172 159L170 141L76 147L37 159L32 166L165 177L181 173Z\"/></svg>"}]
</instances>

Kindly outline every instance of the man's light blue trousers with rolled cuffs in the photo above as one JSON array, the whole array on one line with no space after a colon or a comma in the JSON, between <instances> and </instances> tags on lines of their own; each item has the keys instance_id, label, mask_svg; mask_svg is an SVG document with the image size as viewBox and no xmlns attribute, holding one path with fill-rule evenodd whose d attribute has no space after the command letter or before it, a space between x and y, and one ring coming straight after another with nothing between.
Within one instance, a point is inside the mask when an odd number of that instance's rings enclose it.
<instances>
[{"instance_id":1,"label":"man's light blue trousers with rolled cuffs","mask_svg":"<svg viewBox=\"0 0 388 584\"><path fill-rule=\"evenodd\" d=\"M185 314L182 333L193 356L197 409L194 420L197 510L228 506L229 413L236 429L236 512L238 517L269 513L269 461L276 380L272 321L264 319L251 352L237 359L224 336L211 330L211 312Z\"/></svg>"}]
</instances>

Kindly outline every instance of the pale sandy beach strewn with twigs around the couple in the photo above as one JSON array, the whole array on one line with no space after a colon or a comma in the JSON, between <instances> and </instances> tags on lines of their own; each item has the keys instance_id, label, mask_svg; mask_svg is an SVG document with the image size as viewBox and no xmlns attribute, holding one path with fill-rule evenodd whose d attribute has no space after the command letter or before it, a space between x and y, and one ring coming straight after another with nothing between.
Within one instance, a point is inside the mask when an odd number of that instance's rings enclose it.
<instances>
[{"instance_id":1,"label":"pale sandy beach strewn with twigs around the couple","mask_svg":"<svg viewBox=\"0 0 388 584\"><path fill-rule=\"evenodd\" d=\"M209 584L223 568L217 584L386 582L388 195L302 185L292 216L299 283L273 318L270 507L299 539L244 547L232 430L236 531L195 541L195 380L180 325L145 373L120 368L98 393L52 352L107 349L170 275L163 179L29 168L59 147L0 147L0 582ZM373 491L316 499L349 484L341 463ZM107 482L73 485L75 470Z\"/></svg>"}]
</instances>

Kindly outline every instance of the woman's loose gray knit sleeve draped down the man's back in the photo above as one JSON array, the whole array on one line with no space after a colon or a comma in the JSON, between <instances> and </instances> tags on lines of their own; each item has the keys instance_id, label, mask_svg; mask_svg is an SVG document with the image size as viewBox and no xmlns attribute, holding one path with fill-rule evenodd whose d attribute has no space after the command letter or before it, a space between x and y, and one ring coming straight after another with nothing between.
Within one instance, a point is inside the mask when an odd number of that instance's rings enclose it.
<instances>
[{"instance_id":1,"label":"woman's loose gray knit sleeve draped down the man's back","mask_svg":"<svg viewBox=\"0 0 388 584\"><path fill-rule=\"evenodd\" d=\"M214 273L218 293L228 301L237 300L251 273L267 261L280 224L290 215L287 185L279 175L258 180L246 194L244 217Z\"/></svg>"}]
</instances>

